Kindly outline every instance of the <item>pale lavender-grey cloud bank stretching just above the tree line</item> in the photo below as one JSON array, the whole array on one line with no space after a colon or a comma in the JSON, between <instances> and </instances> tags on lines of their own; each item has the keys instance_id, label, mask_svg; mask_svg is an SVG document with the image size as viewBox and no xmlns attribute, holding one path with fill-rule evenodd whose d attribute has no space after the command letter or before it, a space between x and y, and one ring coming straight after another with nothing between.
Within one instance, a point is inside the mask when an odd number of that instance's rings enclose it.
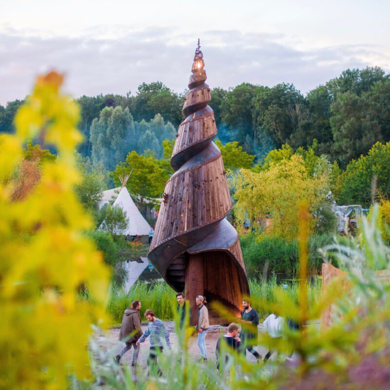
<instances>
[{"instance_id":1,"label":"pale lavender-grey cloud bank stretching just above the tree line","mask_svg":"<svg viewBox=\"0 0 390 390\"><path fill-rule=\"evenodd\" d=\"M298 49L283 34L199 33L211 87L241 82L293 83L307 92L344 69L388 66L389 56L369 45ZM135 93L142 82L160 80L177 92L186 88L197 36L173 28L128 31L98 26L74 37L0 32L0 104L24 98L40 73L66 74L66 90L78 97Z\"/></svg>"}]
</instances>

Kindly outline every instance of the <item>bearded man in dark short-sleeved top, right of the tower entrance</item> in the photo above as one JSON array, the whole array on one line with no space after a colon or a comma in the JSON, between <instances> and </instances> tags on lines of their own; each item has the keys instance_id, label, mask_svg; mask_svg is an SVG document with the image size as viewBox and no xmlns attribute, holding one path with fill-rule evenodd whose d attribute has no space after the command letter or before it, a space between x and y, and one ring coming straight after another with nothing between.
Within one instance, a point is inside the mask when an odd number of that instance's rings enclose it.
<instances>
[{"instance_id":1,"label":"bearded man in dark short-sleeved top, right of the tower entrance","mask_svg":"<svg viewBox=\"0 0 390 390\"><path fill-rule=\"evenodd\" d=\"M254 350L254 345L257 344L257 325L259 324L259 316L254 308L251 307L251 303L248 301L242 301L243 311L241 312L241 351L246 355L247 350L251 352L254 357L259 360L261 355Z\"/></svg>"}]
</instances>

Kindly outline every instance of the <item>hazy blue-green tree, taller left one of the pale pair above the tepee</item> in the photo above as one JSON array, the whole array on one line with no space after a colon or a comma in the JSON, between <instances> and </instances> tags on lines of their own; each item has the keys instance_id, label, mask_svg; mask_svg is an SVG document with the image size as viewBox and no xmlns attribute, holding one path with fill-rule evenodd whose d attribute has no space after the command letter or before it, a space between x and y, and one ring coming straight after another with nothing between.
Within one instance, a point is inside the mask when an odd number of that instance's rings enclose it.
<instances>
[{"instance_id":1,"label":"hazy blue-green tree, taller left one of the pale pair above the tepee","mask_svg":"<svg viewBox=\"0 0 390 390\"><path fill-rule=\"evenodd\" d=\"M135 128L129 109L105 107L91 126L92 158L95 164L112 171L135 149Z\"/></svg>"}]
</instances>

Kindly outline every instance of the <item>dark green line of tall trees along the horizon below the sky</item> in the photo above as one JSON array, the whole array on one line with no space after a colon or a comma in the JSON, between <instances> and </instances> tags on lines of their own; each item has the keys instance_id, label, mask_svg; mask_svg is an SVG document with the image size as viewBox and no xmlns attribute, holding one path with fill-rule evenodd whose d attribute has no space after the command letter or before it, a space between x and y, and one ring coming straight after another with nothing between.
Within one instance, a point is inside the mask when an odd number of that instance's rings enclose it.
<instances>
[{"instance_id":1,"label":"dark green line of tall trees along the horizon below the sky","mask_svg":"<svg viewBox=\"0 0 390 390\"><path fill-rule=\"evenodd\" d=\"M76 99L81 109L78 128L84 135L80 154L111 158L94 155L94 144L100 143L100 148L106 143L111 150L120 144L138 153L154 150L160 157L161 140L174 135L183 120L185 92L175 93L157 81L142 83L135 95ZM242 83L213 88L211 95L219 139L238 141L260 161L283 144L307 148L316 140L319 155L345 168L376 141L390 140L390 75L379 67L347 69L306 95L291 83L274 87ZM22 103L14 100L0 106L0 132L13 131L13 117ZM163 120L156 119L157 114ZM116 151L114 160L123 159L122 152Z\"/></svg>"}]
</instances>

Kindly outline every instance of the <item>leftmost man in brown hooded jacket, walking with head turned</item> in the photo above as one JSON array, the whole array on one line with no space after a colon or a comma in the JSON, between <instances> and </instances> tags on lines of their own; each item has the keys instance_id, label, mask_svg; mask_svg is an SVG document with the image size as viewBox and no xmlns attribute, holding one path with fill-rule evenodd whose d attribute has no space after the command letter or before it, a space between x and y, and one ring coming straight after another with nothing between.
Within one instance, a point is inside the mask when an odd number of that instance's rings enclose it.
<instances>
[{"instance_id":1,"label":"leftmost man in brown hooded jacket, walking with head turned","mask_svg":"<svg viewBox=\"0 0 390 390\"><path fill-rule=\"evenodd\" d=\"M139 317L139 310L141 309L141 302L134 301L131 304L131 308L127 308L123 313L122 317L122 326L119 331L119 340L125 341L126 345L123 347L117 356L115 356L115 361L119 364L120 358L129 350L131 347L134 348L133 351L133 361L131 363L132 367L135 367L137 364L137 358L139 353L139 346L137 346L137 341L139 337L142 336L141 328L141 318Z\"/></svg>"}]
</instances>

